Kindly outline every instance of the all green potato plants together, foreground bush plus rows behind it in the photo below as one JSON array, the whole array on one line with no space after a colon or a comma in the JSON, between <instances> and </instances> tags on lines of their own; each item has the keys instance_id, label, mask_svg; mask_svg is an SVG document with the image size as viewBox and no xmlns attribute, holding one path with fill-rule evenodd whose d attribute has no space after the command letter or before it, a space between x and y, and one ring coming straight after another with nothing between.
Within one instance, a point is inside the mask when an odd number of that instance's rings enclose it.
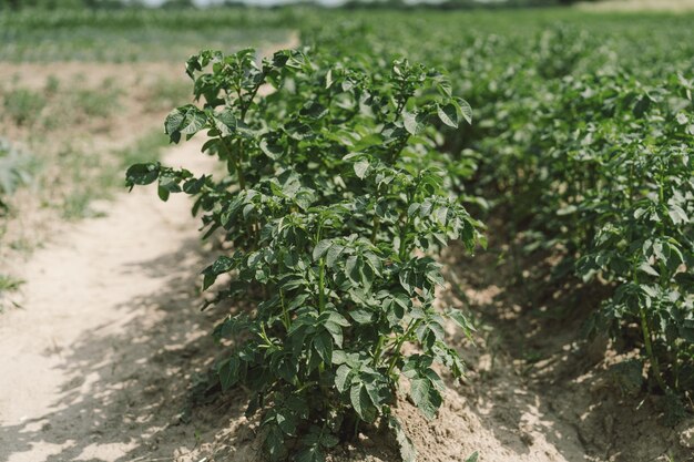
<instances>
[{"instance_id":1,"label":"all green potato plants together, foreground bush plus rows behind it","mask_svg":"<svg viewBox=\"0 0 694 462\"><path fill-rule=\"evenodd\" d=\"M214 332L228 347L217 372L224 389L251 390L269 459L320 461L374 424L416 459L392 408L407 394L433 418L445 386L432 365L462 373L443 326L471 326L433 308L433 256L451 239L483 247L473 216L502 216L494 232L559 257L550 284L604 288L590 333L635 326L637 387L682 403L694 389L688 49L655 41L625 60L629 41L599 47L572 28L521 45L400 19L307 20L313 48L262 62L251 50L191 58L200 104L174 110L166 132L205 132L227 175L127 172L164 201L194 196L205 235L224 236L203 271L212 302L237 307ZM661 51L671 65L649 68Z\"/></svg>"}]
</instances>

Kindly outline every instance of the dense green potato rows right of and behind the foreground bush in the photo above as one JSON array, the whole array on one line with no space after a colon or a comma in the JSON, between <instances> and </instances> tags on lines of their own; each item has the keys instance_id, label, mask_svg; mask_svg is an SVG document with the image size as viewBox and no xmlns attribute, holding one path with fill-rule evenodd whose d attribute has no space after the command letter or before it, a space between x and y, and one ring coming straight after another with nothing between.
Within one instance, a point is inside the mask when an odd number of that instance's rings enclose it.
<instances>
[{"instance_id":1,"label":"dense green potato rows right of and behind the foreground bush","mask_svg":"<svg viewBox=\"0 0 694 462\"><path fill-rule=\"evenodd\" d=\"M404 51L447 69L476 110L473 126L442 131L441 148L468 166L453 187L483 197L501 223L497 240L531 275L517 271L531 286L527 305L573 298L547 308L557 318L581 309L586 332L636 352L622 368L639 379L635 390L691 403L694 75L691 50L673 44L691 43L692 28L673 20L657 40L641 40L620 32L626 19L592 18L532 31L494 22L498 35L476 35L451 32L460 19L438 19L448 20L416 34L414 23L378 18L316 23L304 39L336 53ZM547 268L550 256L558 264ZM595 296L576 290L586 285Z\"/></svg>"}]
</instances>

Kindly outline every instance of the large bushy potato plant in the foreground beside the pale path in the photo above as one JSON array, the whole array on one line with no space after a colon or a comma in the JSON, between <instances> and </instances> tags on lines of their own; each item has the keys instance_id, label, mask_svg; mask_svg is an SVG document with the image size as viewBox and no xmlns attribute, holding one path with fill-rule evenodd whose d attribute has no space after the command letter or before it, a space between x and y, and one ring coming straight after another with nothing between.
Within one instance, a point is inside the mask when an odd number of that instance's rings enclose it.
<instances>
[{"instance_id":1,"label":"large bushy potato plant in the foreground beside the pale path","mask_svg":"<svg viewBox=\"0 0 694 462\"><path fill-rule=\"evenodd\" d=\"M177 143L204 132L203 151L227 175L137 164L127 183L157 182L164 201L194 196L205 236L229 244L203 288L252 307L214 330L233 345L217 363L222 388L251 391L247 414L261 413L271 460L322 461L380 424L414 461L398 396L435 418L445 390L435 365L463 372L443 326L471 329L459 310L435 308L442 277L431 256L451 239L483 244L437 151L439 129L469 122L469 105L407 60L280 51L258 63L253 50L204 51L186 70L200 104L175 109L166 133ZM275 91L259 96L264 85ZM229 280L215 284L221 275Z\"/></svg>"}]
</instances>

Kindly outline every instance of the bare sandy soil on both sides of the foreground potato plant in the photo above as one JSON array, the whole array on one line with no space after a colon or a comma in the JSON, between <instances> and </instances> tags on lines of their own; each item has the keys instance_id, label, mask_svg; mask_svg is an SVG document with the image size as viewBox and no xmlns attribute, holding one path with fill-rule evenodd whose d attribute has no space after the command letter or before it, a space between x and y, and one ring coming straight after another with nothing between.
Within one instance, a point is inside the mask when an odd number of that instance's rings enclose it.
<instances>
[{"instance_id":1,"label":"bare sandy soil on both sides of the foreground potato plant","mask_svg":"<svg viewBox=\"0 0 694 462\"><path fill-rule=\"evenodd\" d=\"M194 142L164 162L196 173L210 158ZM0 316L0 462L259 461L246 396L206 396L220 351L210 332L221 308L201 312L198 274L211 259L185 197L153 187L99 204L103 217L63 224L17 273L21 308ZM580 310L561 300L528 307L509 264L445 258L441 306L474 314L473 340L450 327L469 367L439 417L398 404L419 461L694 461L694 419L663 422L662 397L615 384L615 351L585 342ZM549 311L548 311L549 310ZM538 312L548 314L539 317ZM395 462L388 435L366 432L331 462Z\"/></svg>"}]
</instances>

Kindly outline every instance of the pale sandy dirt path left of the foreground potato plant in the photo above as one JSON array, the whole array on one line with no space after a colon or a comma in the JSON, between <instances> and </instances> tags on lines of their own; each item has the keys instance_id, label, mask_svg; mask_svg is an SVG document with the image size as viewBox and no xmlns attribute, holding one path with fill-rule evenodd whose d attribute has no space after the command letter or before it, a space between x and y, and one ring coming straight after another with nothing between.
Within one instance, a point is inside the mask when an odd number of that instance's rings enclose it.
<instances>
[{"instance_id":1,"label":"pale sandy dirt path left of the foreground potato plant","mask_svg":"<svg viewBox=\"0 0 694 462\"><path fill-rule=\"evenodd\" d=\"M201 171L198 152L186 144L165 162ZM151 187L105 206L33 255L22 309L0 317L2 462L172 460L195 445L157 448L180 410L167 377L188 374L174 359L208 328L194 309L196 220L186 197L164 204Z\"/></svg>"}]
</instances>

